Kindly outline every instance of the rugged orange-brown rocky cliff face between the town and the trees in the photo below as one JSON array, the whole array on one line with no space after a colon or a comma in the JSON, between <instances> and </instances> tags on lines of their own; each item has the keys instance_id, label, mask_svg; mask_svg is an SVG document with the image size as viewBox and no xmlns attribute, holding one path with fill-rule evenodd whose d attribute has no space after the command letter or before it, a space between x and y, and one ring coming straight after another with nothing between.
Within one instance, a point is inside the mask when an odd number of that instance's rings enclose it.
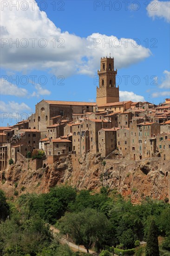
<instances>
[{"instance_id":1,"label":"rugged orange-brown rocky cliff face between the town and the trees","mask_svg":"<svg viewBox=\"0 0 170 256\"><path fill-rule=\"evenodd\" d=\"M145 196L165 199L169 193L170 161L160 158L133 162L103 161L99 154L80 158L68 155L61 156L46 170L39 168L36 171L30 166L33 166L32 160L20 157L3 173L0 188L13 196L14 193L46 193L61 183L96 191L108 185L125 197L131 195L133 203L140 202Z\"/></svg>"}]
</instances>

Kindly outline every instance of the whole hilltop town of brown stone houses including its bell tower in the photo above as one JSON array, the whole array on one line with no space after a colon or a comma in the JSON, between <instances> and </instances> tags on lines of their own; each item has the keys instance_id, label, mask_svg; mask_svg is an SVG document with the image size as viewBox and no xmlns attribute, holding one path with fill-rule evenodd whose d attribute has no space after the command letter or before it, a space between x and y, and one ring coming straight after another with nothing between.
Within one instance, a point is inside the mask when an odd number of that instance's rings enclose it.
<instances>
[{"instance_id":1,"label":"whole hilltop town of brown stone houses including its bell tower","mask_svg":"<svg viewBox=\"0 0 170 256\"><path fill-rule=\"evenodd\" d=\"M114 58L101 58L96 103L42 100L28 120L1 127L0 171L36 149L45 152L37 167L44 169L68 154L170 160L170 99L159 105L119 101L116 75Z\"/></svg>"}]
</instances>

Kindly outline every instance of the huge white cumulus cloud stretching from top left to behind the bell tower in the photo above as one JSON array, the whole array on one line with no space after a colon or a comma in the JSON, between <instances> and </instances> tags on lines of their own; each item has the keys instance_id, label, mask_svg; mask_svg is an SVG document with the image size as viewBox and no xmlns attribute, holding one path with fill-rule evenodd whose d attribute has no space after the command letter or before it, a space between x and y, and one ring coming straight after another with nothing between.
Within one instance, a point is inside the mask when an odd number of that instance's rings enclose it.
<instances>
[{"instance_id":1,"label":"huge white cumulus cloud stretching from top left to behind the bell tower","mask_svg":"<svg viewBox=\"0 0 170 256\"><path fill-rule=\"evenodd\" d=\"M18 1L19 2L19 1ZM25 1L26 2L26 1ZM148 48L132 39L93 33L81 38L62 32L40 11L35 1L27 0L26 11L10 5L1 12L1 65L15 71L45 69L55 75L93 75L101 56L111 53L115 67L122 68L150 56ZM13 5L16 0L13 0ZM13 42L17 42L17 45ZM109 42L109 43L107 43Z\"/></svg>"}]
</instances>

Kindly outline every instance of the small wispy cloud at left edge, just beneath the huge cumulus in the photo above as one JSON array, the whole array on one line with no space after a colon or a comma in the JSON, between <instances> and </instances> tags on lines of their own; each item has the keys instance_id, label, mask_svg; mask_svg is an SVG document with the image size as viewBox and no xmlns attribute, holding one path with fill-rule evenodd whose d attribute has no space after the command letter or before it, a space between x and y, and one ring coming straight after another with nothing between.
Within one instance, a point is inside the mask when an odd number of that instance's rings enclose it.
<instances>
[{"instance_id":1,"label":"small wispy cloud at left edge, just beneath the huge cumulus","mask_svg":"<svg viewBox=\"0 0 170 256\"><path fill-rule=\"evenodd\" d=\"M17 85L14 85L8 81L0 79L0 94L3 95L14 95L18 97L26 97L28 91L24 88L19 88Z\"/></svg>"}]
</instances>

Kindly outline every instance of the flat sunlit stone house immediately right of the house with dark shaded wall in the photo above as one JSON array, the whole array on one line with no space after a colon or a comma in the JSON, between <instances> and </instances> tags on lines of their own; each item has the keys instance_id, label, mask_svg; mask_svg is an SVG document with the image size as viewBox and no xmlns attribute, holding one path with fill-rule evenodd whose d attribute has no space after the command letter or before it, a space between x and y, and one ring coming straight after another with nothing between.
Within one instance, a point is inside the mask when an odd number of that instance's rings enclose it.
<instances>
[{"instance_id":1,"label":"flat sunlit stone house immediately right of the house with dark shaded wall","mask_svg":"<svg viewBox=\"0 0 170 256\"><path fill-rule=\"evenodd\" d=\"M119 158L129 160L130 156L130 129L122 128L117 130L117 148Z\"/></svg>"}]
</instances>

